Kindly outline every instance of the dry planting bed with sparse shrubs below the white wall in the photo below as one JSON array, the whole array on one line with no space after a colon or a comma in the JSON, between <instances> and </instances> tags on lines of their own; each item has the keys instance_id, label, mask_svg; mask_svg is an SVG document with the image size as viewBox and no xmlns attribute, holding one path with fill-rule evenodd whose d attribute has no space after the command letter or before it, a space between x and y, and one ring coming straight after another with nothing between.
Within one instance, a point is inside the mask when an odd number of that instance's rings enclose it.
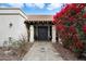
<instances>
[{"instance_id":1,"label":"dry planting bed with sparse shrubs below the white wall","mask_svg":"<svg viewBox=\"0 0 86 64\"><path fill-rule=\"evenodd\" d=\"M0 47L0 61L19 61L29 51L33 43L25 38L11 40L9 47Z\"/></svg>"}]
</instances>

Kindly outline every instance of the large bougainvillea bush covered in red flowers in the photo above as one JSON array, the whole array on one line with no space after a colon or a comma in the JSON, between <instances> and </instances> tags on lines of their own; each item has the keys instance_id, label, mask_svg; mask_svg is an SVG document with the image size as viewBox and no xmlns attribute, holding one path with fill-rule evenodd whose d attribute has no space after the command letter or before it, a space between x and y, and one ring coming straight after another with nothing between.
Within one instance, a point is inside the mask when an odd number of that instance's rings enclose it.
<instances>
[{"instance_id":1,"label":"large bougainvillea bush covered in red flowers","mask_svg":"<svg viewBox=\"0 0 86 64\"><path fill-rule=\"evenodd\" d=\"M66 4L60 12L56 13L56 16L53 16L57 30L60 31L58 34L60 34L60 38L63 40L63 46L67 47L73 52L84 51L84 42L79 36L82 31L86 35L86 24L84 23L86 18L86 13L84 11L86 3ZM81 25L81 23L83 25ZM84 36L84 34L82 36Z\"/></svg>"}]
</instances>

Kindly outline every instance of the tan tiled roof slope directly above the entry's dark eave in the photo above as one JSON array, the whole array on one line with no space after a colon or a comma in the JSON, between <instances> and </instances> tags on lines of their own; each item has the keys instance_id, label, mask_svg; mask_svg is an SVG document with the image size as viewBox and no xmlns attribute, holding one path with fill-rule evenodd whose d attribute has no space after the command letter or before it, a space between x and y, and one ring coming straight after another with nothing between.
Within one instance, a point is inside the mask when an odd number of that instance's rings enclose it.
<instances>
[{"instance_id":1,"label":"tan tiled roof slope directly above the entry's dark eave","mask_svg":"<svg viewBox=\"0 0 86 64\"><path fill-rule=\"evenodd\" d=\"M52 21L52 15L27 15L28 21Z\"/></svg>"}]
</instances>

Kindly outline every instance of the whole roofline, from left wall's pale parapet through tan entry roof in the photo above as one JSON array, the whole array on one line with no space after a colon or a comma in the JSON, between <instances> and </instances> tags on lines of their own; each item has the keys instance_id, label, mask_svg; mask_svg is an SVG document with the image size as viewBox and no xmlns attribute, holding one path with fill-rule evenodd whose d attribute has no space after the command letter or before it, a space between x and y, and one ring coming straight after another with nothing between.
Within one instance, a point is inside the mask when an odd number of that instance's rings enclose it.
<instances>
[{"instance_id":1,"label":"whole roofline, from left wall's pale parapet through tan entry roof","mask_svg":"<svg viewBox=\"0 0 86 64\"><path fill-rule=\"evenodd\" d=\"M8 10L8 11L7 11ZM0 14L20 14L23 17L26 18L26 21L36 21L36 22L40 22L40 21L52 21L52 15L26 15L21 9L19 8L0 8Z\"/></svg>"}]
</instances>

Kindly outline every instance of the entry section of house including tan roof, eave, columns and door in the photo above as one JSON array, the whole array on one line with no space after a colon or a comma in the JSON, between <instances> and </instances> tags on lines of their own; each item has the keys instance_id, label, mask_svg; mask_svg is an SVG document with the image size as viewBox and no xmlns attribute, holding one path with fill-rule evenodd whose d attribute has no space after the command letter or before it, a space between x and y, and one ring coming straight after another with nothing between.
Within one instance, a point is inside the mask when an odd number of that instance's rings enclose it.
<instances>
[{"instance_id":1,"label":"entry section of house including tan roof, eave, columns and door","mask_svg":"<svg viewBox=\"0 0 86 64\"><path fill-rule=\"evenodd\" d=\"M52 23L52 15L27 15L25 21L28 30L29 42L52 41L56 42L56 26Z\"/></svg>"}]
</instances>

